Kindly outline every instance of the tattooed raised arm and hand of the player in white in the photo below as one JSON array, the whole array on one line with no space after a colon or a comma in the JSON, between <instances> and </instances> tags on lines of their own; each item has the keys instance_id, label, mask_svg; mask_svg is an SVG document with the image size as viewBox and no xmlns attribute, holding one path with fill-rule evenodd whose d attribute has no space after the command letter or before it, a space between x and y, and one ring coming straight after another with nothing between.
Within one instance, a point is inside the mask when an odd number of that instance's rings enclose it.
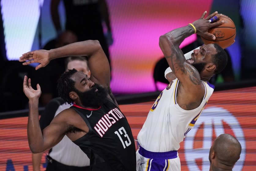
<instances>
[{"instance_id":1,"label":"tattooed raised arm and hand of the player in white","mask_svg":"<svg viewBox=\"0 0 256 171\"><path fill-rule=\"evenodd\" d=\"M222 21L216 23L208 22L208 20L216 14L217 12L204 19L204 16L206 15L205 11L199 20L193 22L198 35L215 39L215 36L208 33L207 30L222 24ZM187 88L191 86L201 88L201 79L198 71L195 67L186 62L184 54L179 48L181 42L194 33L195 29L191 25L187 25L170 31L159 38L159 46L164 53L173 74L180 80L181 84Z\"/></svg>"}]
</instances>

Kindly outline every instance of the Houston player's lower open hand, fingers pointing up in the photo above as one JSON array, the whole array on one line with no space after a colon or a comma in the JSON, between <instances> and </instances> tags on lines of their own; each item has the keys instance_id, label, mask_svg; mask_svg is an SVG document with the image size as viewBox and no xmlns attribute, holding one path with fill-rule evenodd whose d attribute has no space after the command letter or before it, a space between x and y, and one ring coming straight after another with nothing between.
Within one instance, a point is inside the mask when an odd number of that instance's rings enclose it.
<instances>
[{"instance_id":1,"label":"Houston player's lower open hand, fingers pointing up","mask_svg":"<svg viewBox=\"0 0 256 171\"><path fill-rule=\"evenodd\" d=\"M37 84L36 85L37 90L34 90L31 86L31 79L28 78L26 75L24 77L24 81L23 81L23 92L25 93L25 95L28 97L28 99L39 99L40 95L41 95L41 88L40 85Z\"/></svg>"}]
</instances>

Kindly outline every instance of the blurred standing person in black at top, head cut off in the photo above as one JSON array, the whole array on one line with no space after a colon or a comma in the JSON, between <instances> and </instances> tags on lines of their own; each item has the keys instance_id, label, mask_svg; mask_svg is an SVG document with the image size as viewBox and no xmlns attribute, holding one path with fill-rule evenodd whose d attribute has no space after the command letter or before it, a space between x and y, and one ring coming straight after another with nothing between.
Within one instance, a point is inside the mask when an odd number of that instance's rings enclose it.
<instances>
[{"instance_id":1,"label":"blurred standing person in black at top, head cut off","mask_svg":"<svg viewBox=\"0 0 256 171\"><path fill-rule=\"evenodd\" d=\"M51 16L58 35L62 32L58 13L59 2L60 0L51 0ZM112 45L113 38L106 1L63 0L63 2L66 11L65 30L73 31L77 35L78 41L98 40L110 64L108 45ZM108 45L103 33L102 20L107 27Z\"/></svg>"}]
</instances>

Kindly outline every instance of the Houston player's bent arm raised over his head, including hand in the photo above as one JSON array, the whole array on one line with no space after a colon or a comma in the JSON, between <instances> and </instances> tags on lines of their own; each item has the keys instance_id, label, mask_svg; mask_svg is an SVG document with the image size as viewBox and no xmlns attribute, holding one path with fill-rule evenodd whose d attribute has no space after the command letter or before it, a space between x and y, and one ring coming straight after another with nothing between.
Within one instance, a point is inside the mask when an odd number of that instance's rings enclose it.
<instances>
[{"instance_id":1,"label":"Houston player's bent arm raised over his head, including hand","mask_svg":"<svg viewBox=\"0 0 256 171\"><path fill-rule=\"evenodd\" d=\"M110 85L110 67L107 57L102 50L98 40L87 40L83 42L71 43L57 49L35 50L24 53L20 57L23 65L40 63L35 69L45 67L50 60L65 56L88 56L88 66L91 70L91 80L103 86Z\"/></svg>"}]
</instances>

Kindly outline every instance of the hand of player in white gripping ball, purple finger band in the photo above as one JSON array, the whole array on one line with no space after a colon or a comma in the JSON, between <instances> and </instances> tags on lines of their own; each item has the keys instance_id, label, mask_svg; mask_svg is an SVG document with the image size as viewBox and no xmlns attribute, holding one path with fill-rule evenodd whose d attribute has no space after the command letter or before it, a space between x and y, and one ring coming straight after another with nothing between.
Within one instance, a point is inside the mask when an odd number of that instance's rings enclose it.
<instances>
[{"instance_id":1,"label":"hand of player in white gripping ball, purple finger band","mask_svg":"<svg viewBox=\"0 0 256 171\"><path fill-rule=\"evenodd\" d=\"M201 18L199 20L195 20L192 24L195 26L196 28L196 34L202 36L202 37L206 37L206 38L210 38L215 40L216 37L213 34L208 33L208 29L212 28L212 27L217 27L218 25L221 25L224 23L224 21L217 21L214 23L209 23L208 20L210 18L212 18L213 16L215 16L218 12L214 12L211 15L207 16L206 18L204 18L204 16L206 15L206 11L202 14ZM219 16L217 15L217 17L219 18Z\"/></svg>"}]
</instances>

